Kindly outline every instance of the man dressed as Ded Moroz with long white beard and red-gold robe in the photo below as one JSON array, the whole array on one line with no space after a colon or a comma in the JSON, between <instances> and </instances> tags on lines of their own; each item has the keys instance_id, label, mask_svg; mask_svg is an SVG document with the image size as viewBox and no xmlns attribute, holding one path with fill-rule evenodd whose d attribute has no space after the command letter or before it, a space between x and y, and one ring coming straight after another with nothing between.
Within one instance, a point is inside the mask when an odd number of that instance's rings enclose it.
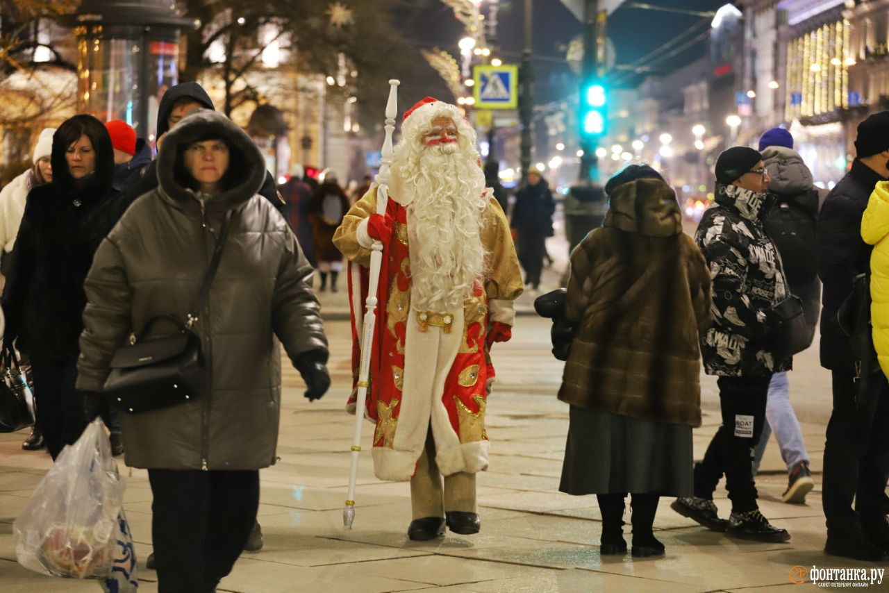
<instances>
[{"instance_id":1,"label":"man dressed as Ded Moroz with long white beard and red-gold robe","mask_svg":"<svg viewBox=\"0 0 889 593\"><path fill-rule=\"evenodd\" d=\"M333 237L364 268L373 240L383 244L366 413L376 422L376 476L411 482L412 540L442 535L445 523L454 533L480 528L488 351L509 340L522 292L509 224L485 189L475 142L456 107L421 100L404 114L386 215L376 213L374 185ZM350 286L354 318L367 292L364 268L361 290Z\"/></svg>"}]
</instances>

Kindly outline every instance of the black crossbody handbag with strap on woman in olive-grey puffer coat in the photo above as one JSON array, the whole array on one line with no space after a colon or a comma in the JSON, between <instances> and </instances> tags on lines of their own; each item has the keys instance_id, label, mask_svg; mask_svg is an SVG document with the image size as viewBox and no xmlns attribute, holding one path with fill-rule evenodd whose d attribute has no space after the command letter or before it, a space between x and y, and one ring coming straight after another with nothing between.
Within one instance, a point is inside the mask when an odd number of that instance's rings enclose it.
<instances>
[{"instance_id":1,"label":"black crossbody handbag with strap on woman in olive-grey puffer coat","mask_svg":"<svg viewBox=\"0 0 889 593\"><path fill-rule=\"evenodd\" d=\"M204 353L200 337L191 328L210 294L228 236L229 220L230 212L213 249L210 268L204 275L195 307L185 321L172 315L152 317L134 343L116 349L103 392L117 410L149 412L204 396ZM164 320L171 322L177 333L147 339L155 324Z\"/></svg>"}]
</instances>

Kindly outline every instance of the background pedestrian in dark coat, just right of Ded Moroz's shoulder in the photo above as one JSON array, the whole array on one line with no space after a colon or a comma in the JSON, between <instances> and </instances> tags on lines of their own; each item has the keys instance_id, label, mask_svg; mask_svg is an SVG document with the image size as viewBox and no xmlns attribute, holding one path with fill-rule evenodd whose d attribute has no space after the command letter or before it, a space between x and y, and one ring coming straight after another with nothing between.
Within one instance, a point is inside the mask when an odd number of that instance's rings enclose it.
<instances>
[{"instance_id":1,"label":"background pedestrian in dark coat, just right of Ded Moroz's shoulder","mask_svg":"<svg viewBox=\"0 0 889 593\"><path fill-rule=\"evenodd\" d=\"M549 183L543 179L540 169L531 167L525 187L516 194L510 226L516 229L518 236L518 260L525 269L525 284L530 284L535 292L541 285L546 241L552 236L555 211L556 203Z\"/></svg>"}]
</instances>

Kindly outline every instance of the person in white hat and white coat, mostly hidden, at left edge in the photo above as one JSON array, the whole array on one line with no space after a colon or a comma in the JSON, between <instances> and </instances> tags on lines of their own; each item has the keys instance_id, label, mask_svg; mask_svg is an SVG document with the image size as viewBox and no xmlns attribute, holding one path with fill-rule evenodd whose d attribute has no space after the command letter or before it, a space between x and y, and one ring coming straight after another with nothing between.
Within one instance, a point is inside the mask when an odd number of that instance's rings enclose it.
<instances>
[{"instance_id":1,"label":"person in white hat and white coat, mostly hidden, at left edge","mask_svg":"<svg viewBox=\"0 0 889 593\"><path fill-rule=\"evenodd\" d=\"M0 288L5 284L5 276L12 268L12 250L15 247L15 237L19 235L21 218L25 214L28 193L36 186L52 183L52 134L55 131L55 128L44 128L40 132L32 155L34 166L0 191L0 247L3 248L3 252L0 252ZM22 353L23 358L27 358L27 354ZM45 446L36 401L34 413L36 419L31 427L31 434L21 444L25 451L38 451Z\"/></svg>"}]
</instances>

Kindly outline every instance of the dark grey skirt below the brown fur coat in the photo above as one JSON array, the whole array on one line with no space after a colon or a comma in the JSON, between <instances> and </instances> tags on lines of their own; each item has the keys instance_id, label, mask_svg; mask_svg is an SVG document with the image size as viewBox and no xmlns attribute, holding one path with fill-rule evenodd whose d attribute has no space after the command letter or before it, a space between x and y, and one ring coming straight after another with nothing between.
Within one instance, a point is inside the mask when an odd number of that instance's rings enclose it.
<instances>
[{"instance_id":1,"label":"dark grey skirt below the brown fur coat","mask_svg":"<svg viewBox=\"0 0 889 593\"><path fill-rule=\"evenodd\" d=\"M691 496L692 427L571 406L561 492Z\"/></svg>"}]
</instances>

